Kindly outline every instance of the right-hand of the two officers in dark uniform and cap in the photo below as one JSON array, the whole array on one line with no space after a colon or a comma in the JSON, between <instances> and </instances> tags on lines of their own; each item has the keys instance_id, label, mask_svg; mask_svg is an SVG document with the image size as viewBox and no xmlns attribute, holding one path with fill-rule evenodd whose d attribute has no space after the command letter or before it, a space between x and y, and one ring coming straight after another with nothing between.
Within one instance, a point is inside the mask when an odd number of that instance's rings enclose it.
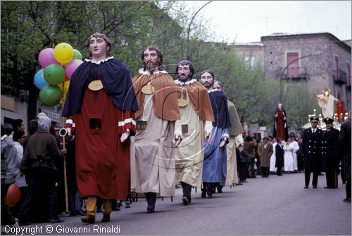
<instances>
[{"instance_id":1,"label":"right-hand of the two officers in dark uniform and cap","mask_svg":"<svg viewBox=\"0 0 352 236\"><path fill-rule=\"evenodd\" d=\"M320 156L322 160L322 170L325 171L327 186L324 188L337 188L337 169L339 168L339 133L334 129L334 120L326 117L324 122L327 126L322 131L322 145Z\"/></svg>"}]
</instances>

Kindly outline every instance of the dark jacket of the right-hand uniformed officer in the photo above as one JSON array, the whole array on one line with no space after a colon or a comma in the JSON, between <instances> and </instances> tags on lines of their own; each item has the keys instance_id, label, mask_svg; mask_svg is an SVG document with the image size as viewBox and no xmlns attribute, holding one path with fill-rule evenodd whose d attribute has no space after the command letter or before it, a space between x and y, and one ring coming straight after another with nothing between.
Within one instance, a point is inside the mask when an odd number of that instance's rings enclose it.
<instances>
[{"instance_id":1,"label":"dark jacket of the right-hand uniformed officer","mask_svg":"<svg viewBox=\"0 0 352 236\"><path fill-rule=\"evenodd\" d=\"M339 133L337 129L322 132L320 156L322 169L334 169L339 166Z\"/></svg>"}]
</instances>

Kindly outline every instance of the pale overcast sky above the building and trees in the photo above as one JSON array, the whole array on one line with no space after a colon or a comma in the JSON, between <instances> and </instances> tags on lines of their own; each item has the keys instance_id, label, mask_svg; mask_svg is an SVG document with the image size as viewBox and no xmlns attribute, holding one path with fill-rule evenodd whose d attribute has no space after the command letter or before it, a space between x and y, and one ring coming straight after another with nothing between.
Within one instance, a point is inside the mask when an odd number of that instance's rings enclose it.
<instances>
[{"instance_id":1,"label":"pale overcast sky above the building and trees","mask_svg":"<svg viewBox=\"0 0 352 236\"><path fill-rule=\"evenodd\" d=\"M184 1L201 8L208 1ZM351 39L351 1L213 1L196 15L211 20L215 41L249 43L272 33L329 32ZM199 20L199 19L197 19Z\"/></svg>"}]
</instances>

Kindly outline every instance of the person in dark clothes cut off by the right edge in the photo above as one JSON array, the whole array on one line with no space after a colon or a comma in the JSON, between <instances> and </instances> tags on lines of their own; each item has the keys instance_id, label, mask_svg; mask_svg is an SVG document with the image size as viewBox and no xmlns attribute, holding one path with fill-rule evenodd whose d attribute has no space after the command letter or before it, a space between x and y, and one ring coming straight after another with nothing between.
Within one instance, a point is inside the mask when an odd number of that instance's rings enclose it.
<instances>
[{"instance_id":1,"label":"person in dark clothes cut off by the right edge","mask_svg":"<svg viewBox=\"0 0 352 236\"><path fill-rule=\"evenodd\" d=\"M348 119L341 124L339 140L342 153L344 153L344 177L346 180L346 198L344 201L351 202L351 110Z\"/></svg>"}]
</instances>

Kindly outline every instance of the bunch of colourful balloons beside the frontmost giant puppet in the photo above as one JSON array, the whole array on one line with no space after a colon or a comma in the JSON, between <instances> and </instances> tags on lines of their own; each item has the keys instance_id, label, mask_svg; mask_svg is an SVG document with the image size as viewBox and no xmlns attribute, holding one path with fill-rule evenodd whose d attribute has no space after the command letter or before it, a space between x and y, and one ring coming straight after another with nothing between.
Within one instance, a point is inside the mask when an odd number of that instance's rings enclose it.
<instances>
[{"instance_id":1,"label":"bunch of colourful balloons beside the frontmost giant puppet","mask_svg":"<svg viewBox=\"0 0 352 236\"><path fill-rule=\"evenodd\" d=\"M34 84L40 89L39 100L47 107L62 104L70 86L70 79L83 61L82 54L70 44L61 43L39 53L42 69L34 75Z\"/></svg>"}]
</instances>

